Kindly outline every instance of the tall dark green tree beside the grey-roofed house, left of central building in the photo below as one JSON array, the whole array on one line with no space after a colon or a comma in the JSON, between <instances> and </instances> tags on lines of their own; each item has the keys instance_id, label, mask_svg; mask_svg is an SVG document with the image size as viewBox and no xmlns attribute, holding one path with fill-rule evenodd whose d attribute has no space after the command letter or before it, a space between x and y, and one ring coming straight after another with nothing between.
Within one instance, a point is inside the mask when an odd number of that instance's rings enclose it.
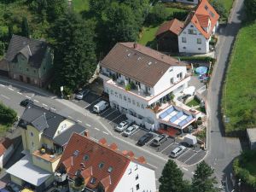
<instances>
[{"instance_id":1,"label":"tall dark green tree beside the grey-roofed house, left of central building","mask_svg":"<svg viewBox=\"0 0 256 192\"><path fill-rule=\"evenodd\" d=\"M82 20L80 15L67 12L55 21L55 89L61 85L74 90L83 86L96 69L95 23Z\"/></svg>"}]
</instances>

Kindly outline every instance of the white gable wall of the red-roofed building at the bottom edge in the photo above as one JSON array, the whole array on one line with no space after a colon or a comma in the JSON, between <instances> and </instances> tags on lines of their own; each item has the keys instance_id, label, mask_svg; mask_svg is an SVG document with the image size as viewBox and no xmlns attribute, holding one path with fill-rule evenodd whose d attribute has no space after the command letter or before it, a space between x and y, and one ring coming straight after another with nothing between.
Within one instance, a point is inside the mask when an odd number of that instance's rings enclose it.
<instances>
[{"instance_id":1,"label":"white gable wall of the red-roofed building at the bottom edge","mask_svg":"<svg viewBox=\"0 0 256 192\"><path fill-rule=\"evenodd\" d=\"M154 170L133 161L113 192L156 192Z\"/></svg>"}]
</instances>

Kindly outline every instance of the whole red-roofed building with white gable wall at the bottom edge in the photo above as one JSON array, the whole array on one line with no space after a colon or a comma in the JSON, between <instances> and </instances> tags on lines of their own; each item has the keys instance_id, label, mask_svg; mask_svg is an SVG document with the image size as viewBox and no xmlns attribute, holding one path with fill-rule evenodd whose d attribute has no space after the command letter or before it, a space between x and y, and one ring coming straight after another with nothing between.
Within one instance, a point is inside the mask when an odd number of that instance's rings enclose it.
<instances>
[{"instance_id":1,"label":"whole red-roofed building with white gable wall at the bottom edge","mask_svg":"<svg viewBox=\"0 0 256 192\"><path fill-rule=\"evenodd\" d=\"M92 141L74 133L55 172L55 181L68 183L70 192L155 192L154 170L143 157L119 151L105 139Z\"/></svg>"}]
</instances>

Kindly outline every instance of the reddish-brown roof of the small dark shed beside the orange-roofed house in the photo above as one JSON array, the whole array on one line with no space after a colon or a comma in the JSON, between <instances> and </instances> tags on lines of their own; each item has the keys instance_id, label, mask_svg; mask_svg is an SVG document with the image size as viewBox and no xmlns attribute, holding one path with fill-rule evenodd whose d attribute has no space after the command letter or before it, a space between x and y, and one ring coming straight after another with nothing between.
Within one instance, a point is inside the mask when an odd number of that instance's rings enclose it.
<instances>
[{"instance_id":1,"label":"reddish-brown roof of the small dark shed beside the orange-roofed house","mask_svg":"<svg viewBox=\"0 0 256 192\"><path fill-rule=\"evenodd\" d=\"M183 26L183 22L177 19L167 21L158 28L155 36L159 36L164 32L173 32L178 35L183 30Z\"/></svg>"}]
</instances>

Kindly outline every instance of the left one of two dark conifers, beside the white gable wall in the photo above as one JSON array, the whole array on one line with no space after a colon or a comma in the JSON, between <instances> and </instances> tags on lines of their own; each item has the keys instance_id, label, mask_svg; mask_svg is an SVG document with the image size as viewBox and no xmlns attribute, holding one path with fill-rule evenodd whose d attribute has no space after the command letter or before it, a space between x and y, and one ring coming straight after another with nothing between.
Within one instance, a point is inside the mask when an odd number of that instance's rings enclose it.
<instances>
[{"instance_id":1,"label":"left one of two dark conifers, beside the white gable wall","mask_svg":"<svg viewBox=\"0 0 256 192\"><path fill-rule=\"evenodd\" d=\"M173 160L168 160L159 179L160 192L184 192L188 183L183 181L183 172Z\"/></svg>"}]
</instances>

